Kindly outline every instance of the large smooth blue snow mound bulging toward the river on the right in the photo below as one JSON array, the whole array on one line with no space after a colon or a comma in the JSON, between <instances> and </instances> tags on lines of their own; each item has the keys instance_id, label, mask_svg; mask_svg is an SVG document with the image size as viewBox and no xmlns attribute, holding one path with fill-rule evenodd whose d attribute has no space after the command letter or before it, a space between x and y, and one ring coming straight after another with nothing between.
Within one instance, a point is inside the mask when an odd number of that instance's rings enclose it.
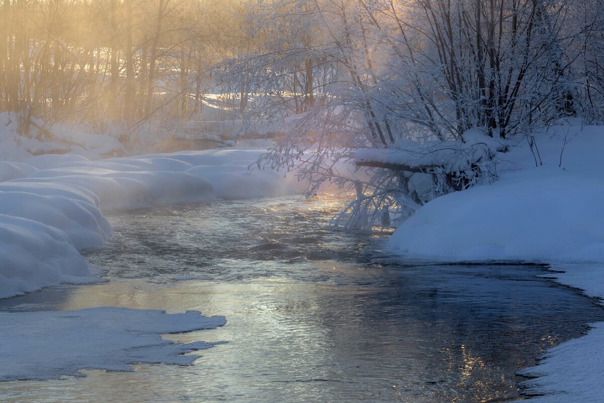
<instances>
[{"instance_id":1,"label":"large smooth blue snow mound bulging toward the river on the right","mask_svg":"<svg viewBox=\"0 0 604 403\"><path fill-rule=\"evenodd\" d=\"M512 173L428 202L389 246L445 260L602 262L603 199L602 179L547 167Z\"/></svg>"}]
</instances>

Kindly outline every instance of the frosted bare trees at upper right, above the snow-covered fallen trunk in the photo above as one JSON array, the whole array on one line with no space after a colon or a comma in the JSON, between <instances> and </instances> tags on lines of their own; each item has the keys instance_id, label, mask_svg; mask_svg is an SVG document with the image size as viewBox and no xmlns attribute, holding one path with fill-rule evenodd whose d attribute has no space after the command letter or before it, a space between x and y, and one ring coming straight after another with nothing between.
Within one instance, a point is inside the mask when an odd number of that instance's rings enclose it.
<instances>
[{"instance_id":1,"label":"frosted bare trees at upper right, above the snow-covered fallen trunk","mask_svg":"<svg viewBox=\"0 0 604 403\"><path fill-rule=\"evenodd\" d=\"M266 162L294 166L304 154L302 172L320 182L334 175L326 156L351 158L362 147L464 141L471 128L508 138L561 118L602 122L603 6L259 2L245 26L260 46L223 63L223 79L233 92L254 93L249 120L300 115Z\"/></svg>"}]
</instances>

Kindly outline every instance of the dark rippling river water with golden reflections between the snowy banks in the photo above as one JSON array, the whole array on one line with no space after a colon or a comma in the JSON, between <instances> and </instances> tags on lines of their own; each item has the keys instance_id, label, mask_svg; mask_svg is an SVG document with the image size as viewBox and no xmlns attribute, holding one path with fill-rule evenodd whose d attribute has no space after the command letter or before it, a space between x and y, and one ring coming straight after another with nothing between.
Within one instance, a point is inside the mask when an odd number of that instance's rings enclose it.
<instances>
[{"instance_id":1,"label":"dark rippling river water with golden reflections between the snowy banks","mask_svg":"<svg viewBox=\"0 0 604 403\"><path fill-rule=\"evenodd\" d=\"M114 214L115 239L86 253L111 282L0 309L199 309L228 323L170 338L228 343L191 367L0 384L0 401L503 402L522 397L517 370L604 320L535 266L371 263L387 235L322 229L340 207L288 196Z\"/></svg>"}]
</instances>

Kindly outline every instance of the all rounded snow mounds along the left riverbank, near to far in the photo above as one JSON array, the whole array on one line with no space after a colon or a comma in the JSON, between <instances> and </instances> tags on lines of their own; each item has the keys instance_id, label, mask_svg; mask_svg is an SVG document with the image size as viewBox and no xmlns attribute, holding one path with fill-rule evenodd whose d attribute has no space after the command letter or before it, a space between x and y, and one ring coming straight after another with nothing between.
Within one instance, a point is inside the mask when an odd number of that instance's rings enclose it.
<instances>
[{"instance_id":1,"label":"all rounded snow mounds along the left riverbank, near to far","mask_svg":"<svg viewBox=\"0 0 604 403\"><path fill-rule=\"evenodd\" d=\"M90 282L78 253L112 235L101 211L301 192L293 177L248 170L263 147L91 161L48 154L0 161L0 298Z\"/></svg>"}]
</instances>

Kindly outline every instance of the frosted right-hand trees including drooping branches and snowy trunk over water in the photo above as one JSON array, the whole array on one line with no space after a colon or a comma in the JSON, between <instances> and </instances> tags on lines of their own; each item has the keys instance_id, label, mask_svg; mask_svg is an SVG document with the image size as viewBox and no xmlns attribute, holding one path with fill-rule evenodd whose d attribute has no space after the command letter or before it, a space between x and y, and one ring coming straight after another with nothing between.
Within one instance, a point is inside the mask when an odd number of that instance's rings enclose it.
<instances>
[{"instance_id":1,"label":"frosted right-hand trees including drooping branches and snowy trunk over water","mask_svg":"<svg viewBox=\"0 0 604 403\"><path fill-rule=\"evenodd\" d=\"M348 229L492 181L521 141L538 161L535 129L602 120L595 4L275 0L248 11L257 46L219 66L224 91L243 121L283 128L264 166L297 170L309 194L325 181L356 187L335 220ZM342 172L355 156L377 167L363 168L369 178Z\"/></svg>"}]
</instances>

